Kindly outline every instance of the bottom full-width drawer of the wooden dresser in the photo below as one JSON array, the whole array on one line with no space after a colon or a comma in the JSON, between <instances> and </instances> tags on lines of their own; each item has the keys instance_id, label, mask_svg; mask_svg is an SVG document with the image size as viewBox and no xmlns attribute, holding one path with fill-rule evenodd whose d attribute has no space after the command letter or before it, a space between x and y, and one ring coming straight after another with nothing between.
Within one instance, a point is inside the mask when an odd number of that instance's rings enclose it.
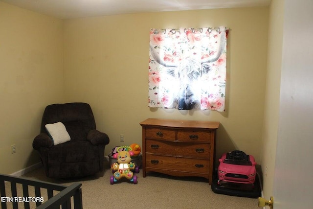
<instances>
[{"instance_id":1,"label":"bottom full-width drawer of the wooden dresser","mask_svg":"<svg viewBox=\"0 0 313 209\"><path fill-rule=\"evenodd\" d=\"M146 167L194 173L209 173L209 160L146 154Z\"/></svg>"}]
</instances>

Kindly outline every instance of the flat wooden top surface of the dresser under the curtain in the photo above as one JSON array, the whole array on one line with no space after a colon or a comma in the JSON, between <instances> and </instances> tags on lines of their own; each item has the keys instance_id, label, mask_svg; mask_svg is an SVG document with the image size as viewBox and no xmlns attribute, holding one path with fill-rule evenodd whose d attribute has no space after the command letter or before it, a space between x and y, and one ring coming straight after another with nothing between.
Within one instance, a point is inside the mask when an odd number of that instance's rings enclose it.
<instances>
[{"instance_id":1,"label":"flat wooden top surface of the dresser under the curtain","mask_svg":"<svg viewBox=\"0 0 313 209\"><path fill-rule=\"evenodd\" d=\"M220 122L217 121L199 121L199 120L172 120L148 118L139 123L141 126L163 126L170 128L207 128L217 129Z\"/></svg>"}]
</instances>

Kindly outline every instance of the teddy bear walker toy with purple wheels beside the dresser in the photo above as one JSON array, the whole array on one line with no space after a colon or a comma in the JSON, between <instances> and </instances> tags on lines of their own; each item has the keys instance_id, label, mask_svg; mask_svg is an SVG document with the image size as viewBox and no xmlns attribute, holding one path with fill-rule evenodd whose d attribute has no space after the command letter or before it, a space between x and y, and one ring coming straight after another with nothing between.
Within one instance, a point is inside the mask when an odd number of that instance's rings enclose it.
<instances>
[{"instance_id":1,"label":"teddy bear walker toy with purple wheels beside the dresser","mask_svg":"<svg viewBox=\"0 0 313 209\"><path fill-rule=\"evenodd\" d=\"M135 169L135 164L132 162L131 156L134 155L134 152L129 148L130 151L117 151L113 155L114 159L117 159L117 163L113 163L111 165L111 170L113 173L113 176L111 176L110 183L114 184L114 182L117 182L121 178L126 178L133 182L134 184L137 184L137 177L134 176L134 173L132 170Z\"/></svg>"}]
</instances>

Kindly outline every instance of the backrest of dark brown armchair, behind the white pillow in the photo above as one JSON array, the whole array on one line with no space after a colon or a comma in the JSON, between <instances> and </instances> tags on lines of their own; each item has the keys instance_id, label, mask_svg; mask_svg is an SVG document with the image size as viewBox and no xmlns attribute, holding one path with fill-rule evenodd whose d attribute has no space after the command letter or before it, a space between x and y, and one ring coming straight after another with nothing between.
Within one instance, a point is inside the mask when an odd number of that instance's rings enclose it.
<instances>
[{"instance_id":1,"label":"backrest of dark brown armchair, behind the white pillow","mask_svg":"<svg viewBox=\"0 0 313 209\"><path fill-rule=\"evenodd\" d=\"M96 123L87 103L75 102L65 104L51 104L45 108L41 124L41 133L47 133L45 125L62 122L71 141L87 140L90 130L96 129Z\"/></svg>"}]
</instances>

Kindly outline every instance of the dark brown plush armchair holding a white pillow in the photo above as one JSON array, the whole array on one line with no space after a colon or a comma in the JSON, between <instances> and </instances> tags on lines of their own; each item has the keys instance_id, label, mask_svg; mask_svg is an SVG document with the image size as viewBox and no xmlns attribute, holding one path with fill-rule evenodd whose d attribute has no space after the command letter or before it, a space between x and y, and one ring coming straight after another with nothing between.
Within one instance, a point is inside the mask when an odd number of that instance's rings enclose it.
<instances>
[{"instance_id":1,"label":"dark brown plush armchair holding a white pillow","mask_svg":"<svg viewBox=\"0 0 313 209\"><path fill-rule=\"evenodd\" d=\"M69 141L56 144L49 135L45 125L57 122L66 127ZM45 108L33 148L40 153L47 177L83 177L103 170L104 149L109 142L107 134L96 130L89 104L52 104Z\"/></svg>"}]
</instances>

